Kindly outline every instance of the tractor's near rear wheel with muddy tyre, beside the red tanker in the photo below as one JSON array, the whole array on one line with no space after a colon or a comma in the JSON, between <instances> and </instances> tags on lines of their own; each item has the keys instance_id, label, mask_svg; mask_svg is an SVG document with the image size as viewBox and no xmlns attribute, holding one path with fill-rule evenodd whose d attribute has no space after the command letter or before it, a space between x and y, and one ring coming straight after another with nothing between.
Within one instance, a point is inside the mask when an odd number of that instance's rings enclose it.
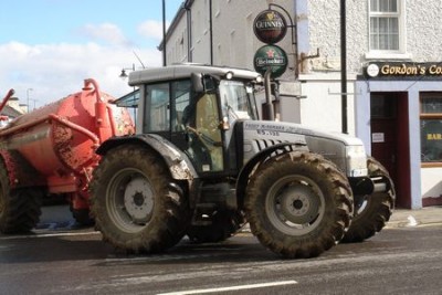
<instances>
[{"instance_id":1,"label":"tractor's near rear wheel with muddy tyre, beside the red tanker","mask_svg":"<svg viewBox=\"0 0 442 295\"><path fill-rule=\"evenodd\" d=\"M104 240L128 252L160 252L185 235L189 209L158 156L143 146L108 151L94 171L92 212Z\"/></svg>"}]
</instances>

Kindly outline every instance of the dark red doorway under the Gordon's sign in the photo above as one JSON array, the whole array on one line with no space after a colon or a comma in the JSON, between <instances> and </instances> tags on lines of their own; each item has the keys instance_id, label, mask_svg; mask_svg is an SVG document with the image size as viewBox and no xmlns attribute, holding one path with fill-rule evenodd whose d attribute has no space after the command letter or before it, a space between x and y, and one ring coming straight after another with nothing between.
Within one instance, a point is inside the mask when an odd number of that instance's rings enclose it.
<instances>
[{"instance_id":1,"label":"dark red doorway under the Gordon's sign","mask_svg":"<svg viewBox=\"0 0 442 295\"><path fill-rule=\"evenodd\" d=\"M411 208L408 114L407 93L371 93L371 156L389 171L399 208Z\"/></svg>"}]
</instances>

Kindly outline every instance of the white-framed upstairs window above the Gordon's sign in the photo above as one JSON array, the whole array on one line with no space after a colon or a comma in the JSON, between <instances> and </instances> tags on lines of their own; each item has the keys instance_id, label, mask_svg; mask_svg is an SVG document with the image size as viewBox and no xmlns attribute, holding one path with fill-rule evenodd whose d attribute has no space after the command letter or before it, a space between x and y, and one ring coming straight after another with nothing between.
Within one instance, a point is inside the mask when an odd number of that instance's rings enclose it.
<instances>
[{"instance_id":1,"label":"white-framed upstairs window above the Gordon's sign","mask_svg":"<svg viewBox=\"0 0 442 295\"><path fill-rule=\"evenodd\" d=\"M370 0L370 51L403 52L402 2Z\"/></svg>"}]
</instances>

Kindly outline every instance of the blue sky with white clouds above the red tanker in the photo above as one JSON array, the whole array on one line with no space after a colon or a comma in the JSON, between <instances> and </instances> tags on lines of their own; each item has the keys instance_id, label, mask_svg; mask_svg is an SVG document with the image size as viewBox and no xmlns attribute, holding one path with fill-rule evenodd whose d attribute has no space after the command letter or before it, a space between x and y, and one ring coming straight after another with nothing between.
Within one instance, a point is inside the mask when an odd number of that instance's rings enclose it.
<instances>
[{"instance_id":1,"label":"blue sky with white clouds above the red tanker","mask_svg":"<svg viewBox=\"0 0 442 295\"><path fill-rule=\"evenodd\" d=\"M167 24L182 2L166 0ZM32 109L85 78L118 98L133 91L122 69L162 65L161 40L162 0L0 0L0 99L13 88Z\"/></svg>"}]
</instances>

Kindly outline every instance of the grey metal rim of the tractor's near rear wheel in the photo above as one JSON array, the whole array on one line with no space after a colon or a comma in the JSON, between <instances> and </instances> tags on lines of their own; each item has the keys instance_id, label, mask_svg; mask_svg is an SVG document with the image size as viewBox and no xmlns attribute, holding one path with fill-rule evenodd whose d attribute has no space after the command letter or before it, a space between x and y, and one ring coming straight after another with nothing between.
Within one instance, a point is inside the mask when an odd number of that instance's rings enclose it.
<instances>
[{"instance_id":1,"label":"grey metal rim of the tractor's near rear wheel","mask_svg":"<svg viewBox=\"0 0 442 295\"><path fill-rule=\"evenodd\" d=\"M109 218L123 231L139 232L150 221L155 207L152 186L138 169L118 171L107 189Z\"/></svg>"}]
</instances>

